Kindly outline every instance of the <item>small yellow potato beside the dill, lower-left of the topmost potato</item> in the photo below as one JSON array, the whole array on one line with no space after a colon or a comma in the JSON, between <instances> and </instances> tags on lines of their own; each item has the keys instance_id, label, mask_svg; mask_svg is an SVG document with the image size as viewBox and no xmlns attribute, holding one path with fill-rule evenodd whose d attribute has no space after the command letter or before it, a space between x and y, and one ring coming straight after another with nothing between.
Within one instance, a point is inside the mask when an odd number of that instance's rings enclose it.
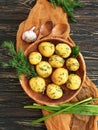
<instances>
[{"instance_id":1,"label":"small yellow potato beside the dill, lower-left of the topmost potato","mask_svg":"<svg viewBox=\"0 0 98 130\"><path fill-rule=\"evenodd\" d=\"M29 54L29 62L32 65L38 64L42 60L42 55L39 52L31 52Z\"/></svg>"}]
</instances>

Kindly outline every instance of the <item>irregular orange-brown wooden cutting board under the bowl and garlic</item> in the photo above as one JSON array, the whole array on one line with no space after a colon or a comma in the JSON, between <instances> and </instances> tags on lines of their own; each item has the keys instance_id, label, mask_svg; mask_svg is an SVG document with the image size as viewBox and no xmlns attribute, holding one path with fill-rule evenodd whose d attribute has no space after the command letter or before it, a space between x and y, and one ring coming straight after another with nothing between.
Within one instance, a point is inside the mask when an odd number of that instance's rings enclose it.
<instances>
[{"instance_id":1,"label":"irregular orange-brown wooden cutting board under the bowl and garlic","mask_svg":"<svg viewBox=\"0 0 98 130\"><path fill-rule=\"evenodd\" d=\"M57 13L58 12L58 13ZM36 5L31 9L28 18L19 25L17 32L17 50L22 45L24 51L30 45L25 43L21 36L22 33L30 29L32 26L40 27L44 22L51 20L54 25L58 23L66 23L68 26L66 40L74 44L70 38L70 26L67 14L60 7L53 7L47 0L37 0ZM65 39L65 37L63 37ZM87 97L98 97L98 89L94 83L86 76L86 80L79 94L72 101L80 101ZM97 102L96 102L97 103ZM49 114L42 111L43 115ZM80 116L72 114L59 114L45 121L47 130L98 130L98 116Z\"/></svg>"}]
</instances>

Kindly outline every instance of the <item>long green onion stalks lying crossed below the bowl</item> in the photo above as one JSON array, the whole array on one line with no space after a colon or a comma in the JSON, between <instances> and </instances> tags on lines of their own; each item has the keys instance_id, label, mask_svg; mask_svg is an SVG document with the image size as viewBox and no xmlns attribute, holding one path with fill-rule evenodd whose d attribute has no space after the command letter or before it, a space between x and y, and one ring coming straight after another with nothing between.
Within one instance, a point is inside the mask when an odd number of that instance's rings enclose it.
<instances>
[{"instance_id":1,"label":"long green onion stalks lying crossed below the bowl","mask_svg":"<svg viewBox=\"0 0 98 130\"><path fill-rule=\"evenodd\" d=\"M44 116L42 118L39 118L37 120L34 120L31 122L32 125L35 125L41 121L45 121L52 116L55 116L60 113L69 113L69 114L79 114L79 115L89 115L89 116L95 116L98 115L98 105L91 104L93 101L98 100L98 98L87 98L79 102L75 103L65 103L57 106L44 106L39 104L34 104L30 106L24 106L24 108L30 108L30 109L44 109L49 112L52 112L51 114Z\"/></svg>"}]
</instances>

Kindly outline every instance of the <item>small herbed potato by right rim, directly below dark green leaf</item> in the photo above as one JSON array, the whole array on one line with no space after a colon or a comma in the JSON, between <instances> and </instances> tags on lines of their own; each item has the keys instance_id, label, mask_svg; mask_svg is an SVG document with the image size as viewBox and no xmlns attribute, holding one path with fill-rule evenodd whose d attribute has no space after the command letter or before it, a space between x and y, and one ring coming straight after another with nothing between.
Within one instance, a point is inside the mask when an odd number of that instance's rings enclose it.
<instances>
[{"instance_id":1,"label":"small herbed potato by right rim, directly below dark green leaf","mask_svg":"<svg viewBox=\"0 0 98 130\"><path fill-rule=\"evenodd\" d=\"M66 60L66 67L70 71L77 71L79 69L79 62L76 58L69 58Z\"/></svg>"}]
</instances>

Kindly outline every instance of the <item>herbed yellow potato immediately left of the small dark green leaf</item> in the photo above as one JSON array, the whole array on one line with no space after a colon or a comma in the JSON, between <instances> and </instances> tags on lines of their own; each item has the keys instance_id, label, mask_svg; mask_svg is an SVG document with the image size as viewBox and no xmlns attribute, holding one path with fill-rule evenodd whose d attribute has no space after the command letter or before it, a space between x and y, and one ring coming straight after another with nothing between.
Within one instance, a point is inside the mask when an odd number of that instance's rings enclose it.
<instances>
[{"instance_id":1,"label":"herbed yellow potato immediately left of the small dark green leaf","mask_svg":"<svg viewBox=\"0 0 98 130\"><path fill-rule=\"evenodd\" d=\"M59 43L56 45L55 52L63 58L67 58L71 54L71 48L65 43Z\"/></svg>"}]
</instances>

